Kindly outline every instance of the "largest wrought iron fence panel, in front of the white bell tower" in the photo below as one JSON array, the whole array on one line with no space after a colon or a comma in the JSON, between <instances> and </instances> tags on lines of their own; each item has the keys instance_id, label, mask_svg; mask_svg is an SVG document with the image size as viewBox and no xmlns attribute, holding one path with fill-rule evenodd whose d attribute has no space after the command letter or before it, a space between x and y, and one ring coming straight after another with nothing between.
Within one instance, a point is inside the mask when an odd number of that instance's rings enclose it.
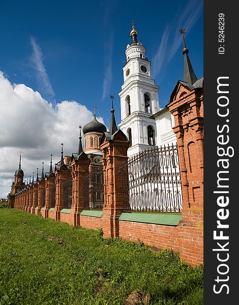
<instances>
[{"instance_id":1,"label":"largest wrought iron fence panel, in front of the white bell tower","mask_svg":"<svg viewBox=\"0 0 239 305\"><path fill-rule=\"evenodd\" d=\"M177 145L142 151L128 159L121 173L125 211L182 211Z\"/></svg>"}]
</instances>

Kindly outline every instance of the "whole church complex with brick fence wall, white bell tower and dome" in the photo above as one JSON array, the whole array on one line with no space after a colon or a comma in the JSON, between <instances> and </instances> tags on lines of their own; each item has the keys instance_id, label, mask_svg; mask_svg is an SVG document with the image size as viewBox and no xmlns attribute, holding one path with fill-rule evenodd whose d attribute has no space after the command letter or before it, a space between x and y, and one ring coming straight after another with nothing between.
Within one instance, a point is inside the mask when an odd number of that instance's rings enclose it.
<instances>
[{"instance_id":1,"label":"whole church complex with brick fence wall, white bell tower and dome","mask_svg":"<svg viewBox=\"0 0 239 305\"><path fill-rule=\"evenodd\" d=\"M110 96L109 131L96 118L79 126L78 151L29 183L19 168L9 207L86 229L180 252L203 261L203 77L197 79L184 35L184 76L165 108L146 49L132 25L119 93L118 129ZM84 149L82 134L84 137ZM143 212L143 213L142 213ZM196 249L196 252L192 251Z\"/></svg>"}]
</instances>

